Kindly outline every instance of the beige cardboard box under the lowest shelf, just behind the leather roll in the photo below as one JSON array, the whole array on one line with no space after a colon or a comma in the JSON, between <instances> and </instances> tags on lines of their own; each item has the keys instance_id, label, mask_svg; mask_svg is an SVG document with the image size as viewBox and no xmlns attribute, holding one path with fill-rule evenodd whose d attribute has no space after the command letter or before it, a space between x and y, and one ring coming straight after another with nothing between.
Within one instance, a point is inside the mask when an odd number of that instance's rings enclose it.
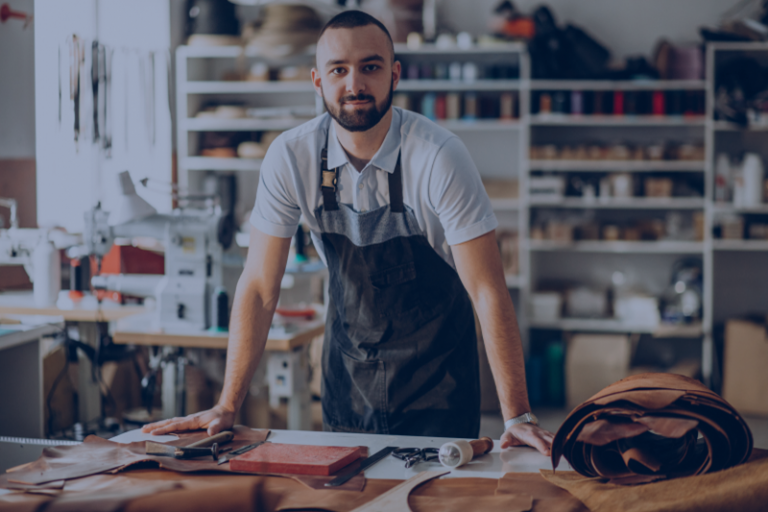
<instances>
[{"instance_id":1,"label":"beige cardboard box under the lowest shelf, just behind the leather roll","mask_svg":"<svg viewBox=\"0 0 768 512\"><path fill-rule=\"evenodd\" d=\"M629 336L577 334L565 356L565 394L570 409L629 375Z\"/></svg>"}]
</instances>

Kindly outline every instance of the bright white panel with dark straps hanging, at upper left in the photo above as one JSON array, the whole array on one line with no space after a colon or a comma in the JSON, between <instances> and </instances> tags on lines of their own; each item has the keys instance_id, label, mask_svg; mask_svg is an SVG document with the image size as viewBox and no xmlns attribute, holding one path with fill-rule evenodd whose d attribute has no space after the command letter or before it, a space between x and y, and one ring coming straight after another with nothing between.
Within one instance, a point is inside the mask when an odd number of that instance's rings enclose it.
<instances>
[{"instance_id":1,"label":"bright white panel with dark straps hanging, at upper left","mask_svg":"<svg viewBox=\"0 0 768 512\"><path fill-rule=\"evenodd\" d=\"M116 175L131 171L134 181L150 176L171 179L171 124L168 105L167 52L170 14L167 0L37 0L35 2L35 104L37 139L38 224L59 225L71 232L83 226L84 212L101 201L109 210L117 197ZM80 136L74 140L74 102L70 99L69 46L77 34L85 41L81 69ZM93 137L91 43L114 48L112 151L107 154ZM142 87L150 77L148 51L155 51L154 111L145 112ZM61 59L59 58L61 55ZM59 65L59 62L61 64ZM149 79L148 79L149 80ZM62 89L59 121L59 83ZM154 141L148 126L154 124ZM168 211L168 194L142 192L160 211Z\"/></svg>"}]
</instances>

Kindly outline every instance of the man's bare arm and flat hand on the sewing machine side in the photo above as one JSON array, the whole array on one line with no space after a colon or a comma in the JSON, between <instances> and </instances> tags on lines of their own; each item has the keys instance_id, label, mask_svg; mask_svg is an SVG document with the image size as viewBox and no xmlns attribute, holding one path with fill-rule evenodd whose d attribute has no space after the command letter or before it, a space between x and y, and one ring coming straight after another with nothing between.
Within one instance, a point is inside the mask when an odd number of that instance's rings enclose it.
<instances>
[{"instance_id":1,"label":"man's bare arm and flat hand on the sewing machine side","mask_svg":"<svg viewBox=\"0 0 768 512\"><path fill-rule=\"evenodd\" d=\"M184 418L145 425L144 432L165 434L206 428L213 435L234 425L235 414L264 354L290 246L290 238L270 236L251 227L248 257L232 302L227 369L219 403Z\"/></svg>"}]
</instances>

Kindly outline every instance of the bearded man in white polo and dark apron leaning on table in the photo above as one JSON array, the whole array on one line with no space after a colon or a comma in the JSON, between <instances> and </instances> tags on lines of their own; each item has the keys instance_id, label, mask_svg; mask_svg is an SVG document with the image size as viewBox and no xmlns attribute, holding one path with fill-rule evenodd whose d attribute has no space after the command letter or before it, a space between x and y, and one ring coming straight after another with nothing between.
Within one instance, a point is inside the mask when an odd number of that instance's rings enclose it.
<instances>
[{"instance_id":1,"label":"bearded man in white polo and dark apron leaning on table","mask_svg":"<svg viewBox=\"0 0 768 512\"><path fill-rule=\"evenodd\" d=\"M329 269L326 430L477 437L474 303L507 420L502 447L548 454L552 434L528 405L496 218L466 148L423 116L391 107L401 66L371 16L334 17L316 65L312 82L328 114L283 133L264 159L221 399L144 431L214 434L232 426L303 215Z\"/></svg>"}]
</instances>

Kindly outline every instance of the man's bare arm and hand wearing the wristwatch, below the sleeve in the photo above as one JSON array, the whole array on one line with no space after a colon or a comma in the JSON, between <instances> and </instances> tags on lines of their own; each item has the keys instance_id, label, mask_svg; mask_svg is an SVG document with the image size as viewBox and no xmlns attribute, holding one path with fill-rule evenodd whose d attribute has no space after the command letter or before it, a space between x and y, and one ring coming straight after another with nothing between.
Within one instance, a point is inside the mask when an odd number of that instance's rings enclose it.
<instances>
[{"instance_id":1,"label":"man's bare arm and hand wearing the wristwatch, below the sleeve","mask_svg":"<svg viewBox=\"0 0 768 512\"><path fill-rule=\"evenodd\" d=\"M520 330L504 279L496 233L491 231L454 245L451 250L456 270L480 319L504 420L530 412ZM546 430L522 423L504 433L501 447L527 444L549 455L552 439Z\"/></svg>"}]
</instances>

